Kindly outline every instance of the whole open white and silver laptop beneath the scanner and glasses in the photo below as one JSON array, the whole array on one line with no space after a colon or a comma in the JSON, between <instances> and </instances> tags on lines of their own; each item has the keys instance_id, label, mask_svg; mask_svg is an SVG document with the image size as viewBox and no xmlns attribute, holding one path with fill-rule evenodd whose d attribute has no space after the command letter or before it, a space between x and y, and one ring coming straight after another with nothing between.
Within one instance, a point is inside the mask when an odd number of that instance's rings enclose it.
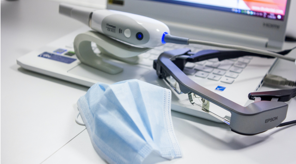
<instances>
[{"instance_id":1,"label":"whole open white and silver laptop beneath the scanner and glasses","mask_svg":"<svg viewBox=\"0 0 296 164\"><path fill-rule=\"evenodd\" d=\"M107 9L115 9L152 17L163 21L171 34L190 39L243 45L266 50L280 50L284 41L290 0L271 2L242 0L109 0ZM172 110L221 122L203 110L192 106L187 94L178 95L153 69L153 60L167 50L190 48L192 52L216 49L201 45L166 43L140 54L137 64L105 56L104 61L123 68L111 75L85 65L75 56L73 41L76 35L91 30L81 28L48 45L17 59L17 64L34 72L53 76L87 87L97 82L113 84L139 79L172 90ZM95 53L100 50L92 44ZM199 85L242 106L252 101L247 95L257 91L263 78L270 73L277 59L242 57L218 61L216 58L187 63L183 72ZM231 114L210 103L210 111L230 119Z\"/></svg>"}]
</instances>

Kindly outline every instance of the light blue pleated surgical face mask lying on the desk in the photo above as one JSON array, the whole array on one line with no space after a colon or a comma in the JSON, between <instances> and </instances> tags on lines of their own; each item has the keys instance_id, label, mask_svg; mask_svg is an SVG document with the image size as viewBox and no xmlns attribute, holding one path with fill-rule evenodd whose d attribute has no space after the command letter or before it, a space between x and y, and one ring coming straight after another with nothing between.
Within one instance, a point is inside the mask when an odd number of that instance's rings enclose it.
<instances>
[{"instance_id":1,"label":"light blue pleated surgical face mask lying on the desk","mask_svg":"<svg viewBox=\"0 0 296 164\"><path fill-rule=\"evenodd\" d=\"M94 84L77 106L97 153L109 163L141 163L152 151L182 157L171 91L140 80Z\"/></svg>"}]
</instances>

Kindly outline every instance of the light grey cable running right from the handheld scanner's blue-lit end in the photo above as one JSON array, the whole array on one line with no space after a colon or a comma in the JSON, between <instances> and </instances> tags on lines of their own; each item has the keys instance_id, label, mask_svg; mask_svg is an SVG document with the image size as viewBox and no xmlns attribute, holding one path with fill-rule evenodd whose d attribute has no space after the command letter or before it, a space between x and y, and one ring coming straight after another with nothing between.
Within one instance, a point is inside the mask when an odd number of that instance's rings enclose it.
<instances>
[{"instance_id":1,"label":"light grey cable running right from the handheld scanner's blue-lit end","mask_svg":"<svg viewBox=\"0 0 296 164\"><path fill-rule=\"evenodd\" d=\"M268 56L272 56L275 58L281 58L281 59L295 62L295 58L291 58L291 57L277 54L275 52L266 51L266 50L259 50L259 49L255 49L255 48L236 46L236 45L230 45L230 44L215 43L215 42L207 42L207 41L202 41L202 40L193 40L193 39L188 39L188 44L200 44L200 45L205 45L205 46L214 46L214 47L242 50L242 51L247 51L247 52L252 52L252 53L262 54L262 55L268 55Z\"/></svg>"}]
</instances>

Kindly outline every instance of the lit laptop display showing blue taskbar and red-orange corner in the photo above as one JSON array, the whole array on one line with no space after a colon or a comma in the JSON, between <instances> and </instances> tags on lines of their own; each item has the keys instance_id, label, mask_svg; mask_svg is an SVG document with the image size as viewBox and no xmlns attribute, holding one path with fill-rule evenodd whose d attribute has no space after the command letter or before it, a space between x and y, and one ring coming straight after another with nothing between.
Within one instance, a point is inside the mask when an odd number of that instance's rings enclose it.
<instances>
[{"instance_id":1,"label":"lit laptop display showing blue taskbar and red-orange corner","mask_svg":"<svg viewBox=\"0 0 296 164\"><path fill-rule=\"evenodd\" d=\"M287 0L152 0L284 20Z\"/></svg>"}]
</instances>

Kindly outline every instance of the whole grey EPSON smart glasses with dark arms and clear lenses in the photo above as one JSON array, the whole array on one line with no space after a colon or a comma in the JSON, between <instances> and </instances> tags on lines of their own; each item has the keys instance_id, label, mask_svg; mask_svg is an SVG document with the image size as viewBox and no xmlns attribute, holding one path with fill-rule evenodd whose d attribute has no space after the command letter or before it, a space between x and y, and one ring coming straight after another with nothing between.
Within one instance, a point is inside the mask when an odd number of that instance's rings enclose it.
<instances>
[{"instance_id":1,"label":"whole grey EPSON smart glasses with dark arms and clear lenses","mask_svg":"<svg viewBox=\"0 0 296 164\"><path fill-rule=\"evenodd\" d=\"M278 52L278 54L287 54L290 51L286 50ZM192 105L225 122L233 132L238 134L256 135L274 127L296 123L295 120L281 124L287 115L288 104L285 102L296 96L296 88L250 93L249 99L254 100L256 98L257 101L244 107L200 86L182 71L186 62L197 62L211 58L218 58L221 61L246 55L273 58L244 51L202 50L192 53L190 49L184 48L163 52L154 61L153 68L158 77L170 84L178 94L188 94L188 99ZM211 112L209 102L228 110L231 113L231 121Z\"/></svg>"}]
</instances>

